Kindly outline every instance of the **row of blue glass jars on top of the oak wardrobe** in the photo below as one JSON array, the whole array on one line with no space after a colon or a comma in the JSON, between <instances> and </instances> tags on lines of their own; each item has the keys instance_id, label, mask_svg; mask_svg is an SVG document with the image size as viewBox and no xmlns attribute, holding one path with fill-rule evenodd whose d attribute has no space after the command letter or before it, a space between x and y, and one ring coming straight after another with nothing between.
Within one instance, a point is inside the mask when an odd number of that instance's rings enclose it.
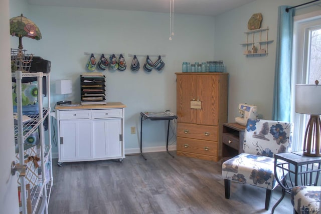
<instances>
[{"instance_id":1,"label":"row of blue glass jars on top of the oak wardrobe","mask_svg":"<svg viewBox=\"0 0 321 214\"><path fill-rule=\"evenodd\" d=\"M195 64L183 62L182 64L182 72L224 72L224 69L223 60L207 61L201 64L199 62L195 62Z\"/></svg>"}]
</instances>

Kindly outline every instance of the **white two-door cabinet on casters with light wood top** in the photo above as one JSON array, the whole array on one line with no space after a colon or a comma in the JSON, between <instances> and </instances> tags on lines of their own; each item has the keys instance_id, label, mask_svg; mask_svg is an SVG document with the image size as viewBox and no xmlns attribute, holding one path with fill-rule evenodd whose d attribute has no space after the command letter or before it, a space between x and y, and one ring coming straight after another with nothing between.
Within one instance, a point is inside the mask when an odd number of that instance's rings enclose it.
<instances>
[{"instance_id":1,"label":"white two-door cabinet on casters with light wood top","mask_svg":"<svg viewBox=\"0 0 321 214\"><path fill-rule=\"evenodd\" d=\"M119 159L124 155L122 103L57 106L58 164Z\"/></svg>"}]
</instances>

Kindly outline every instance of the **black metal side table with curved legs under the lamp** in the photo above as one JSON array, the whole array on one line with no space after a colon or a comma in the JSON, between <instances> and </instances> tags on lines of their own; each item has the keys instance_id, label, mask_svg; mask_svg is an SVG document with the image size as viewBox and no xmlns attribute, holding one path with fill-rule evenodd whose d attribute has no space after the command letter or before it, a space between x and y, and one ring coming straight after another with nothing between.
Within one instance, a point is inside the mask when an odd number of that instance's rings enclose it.
<instances>
[{"instance_id":1,"label":"black metal side table with curved legs under the lamp","mask_svg":"<svg viewBox=\"0 0 321 214\"><path fill-rule=\"evenodd\" d=\"M281 176L284 177L282 180L278 179L280 171ZM276 181L282 187L282 196L273 206L272 213L284 198L285 193L291 193L292 187L319 186L320 172L321 157L304 156L303 151L274 154L274 174Z\"/></svg>"}]
</instances>

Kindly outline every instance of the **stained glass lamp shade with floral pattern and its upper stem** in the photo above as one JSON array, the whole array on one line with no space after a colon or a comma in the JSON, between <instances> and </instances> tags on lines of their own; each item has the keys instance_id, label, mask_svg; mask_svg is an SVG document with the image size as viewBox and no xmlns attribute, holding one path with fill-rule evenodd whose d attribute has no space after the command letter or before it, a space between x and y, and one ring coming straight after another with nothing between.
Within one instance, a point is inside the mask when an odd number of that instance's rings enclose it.
<instances>
[{"instance_id":1,"label":"stained glass lamp shade with floral pattern and its upper stem","mask_svg":"<svg viewBox=\"0 0 321 214\"><path fill-rule=\"evenodd\" d=\"M23 49L22 38L29 37L31 39L40 40L41 33L38 26L30 19L27 19L22 14L19 17L10 19L10 34L19 38L19 49Z\"/></svg>"}]
</instances>

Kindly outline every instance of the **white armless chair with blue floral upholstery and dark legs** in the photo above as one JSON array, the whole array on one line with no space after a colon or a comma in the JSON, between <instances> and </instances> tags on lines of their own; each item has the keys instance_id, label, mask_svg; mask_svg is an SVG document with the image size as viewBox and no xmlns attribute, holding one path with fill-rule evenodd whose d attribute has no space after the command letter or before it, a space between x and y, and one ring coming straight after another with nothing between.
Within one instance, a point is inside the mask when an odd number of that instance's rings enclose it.
<instances>
[{"instance_id":1,"label":"white armless chair with blue floral upholstery and dark legs","mask_svg":"<svg viewBox=\"0 0 321 214\"><path fill-rule=\"evenodd\" d=\"M289 122L248 119L244 132L244 153L222 164L225 198L230 198L231 180L263 187L266 188L265 209L269 209L272 190L277 186L274 154L290 151L292 130L293 124Z\"/></svg>"}]
</instances>

